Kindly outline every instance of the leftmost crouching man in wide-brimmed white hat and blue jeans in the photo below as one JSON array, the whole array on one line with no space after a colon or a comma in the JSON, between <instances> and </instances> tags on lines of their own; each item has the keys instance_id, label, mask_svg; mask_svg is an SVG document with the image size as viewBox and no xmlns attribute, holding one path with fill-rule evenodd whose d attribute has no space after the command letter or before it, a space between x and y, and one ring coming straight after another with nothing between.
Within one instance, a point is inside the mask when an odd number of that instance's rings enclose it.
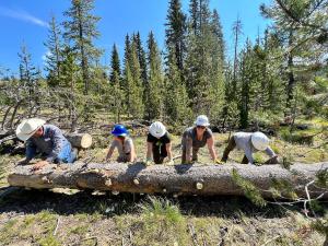
<instances>
[{"instance_id":1,"label":"leftmost crouching man in wide-brimmed white hat and blue jeans","mask_svg":"<svg viewBox=\"0 0 328 246\"><path fill-rule=\"evenodd\" d=\"M27 164L37 154L42 154L44 160L34 164L34 169L39 169L48 163L73 163L77 159L77 152L72 150L61 130L43 119L24 119L17 126L16 136L26 144L26 157L21 164Z\"/></svg>"}]
</instances>

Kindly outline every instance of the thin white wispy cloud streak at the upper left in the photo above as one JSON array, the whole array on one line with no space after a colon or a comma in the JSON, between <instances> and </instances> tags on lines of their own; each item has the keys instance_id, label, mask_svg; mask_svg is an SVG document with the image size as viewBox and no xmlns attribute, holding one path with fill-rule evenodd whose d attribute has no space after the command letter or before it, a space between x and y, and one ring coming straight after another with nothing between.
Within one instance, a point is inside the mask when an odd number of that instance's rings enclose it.
<instances>
[{"instance_id":1,"label":"thin white wispy cloud streak at the upper left","mask_svg":"<svg viewBox=\"0 0 328 246\"><path fill-rule=\"evenodd\" d=\"M30 22L32 24L42 26L42 27L48 27L49 24L47 22L44 22L43 20L33 16L32 14L22 11L22 10L11 10L3 7L0 7L0 15Z\"/></svg>"}]
</instances>

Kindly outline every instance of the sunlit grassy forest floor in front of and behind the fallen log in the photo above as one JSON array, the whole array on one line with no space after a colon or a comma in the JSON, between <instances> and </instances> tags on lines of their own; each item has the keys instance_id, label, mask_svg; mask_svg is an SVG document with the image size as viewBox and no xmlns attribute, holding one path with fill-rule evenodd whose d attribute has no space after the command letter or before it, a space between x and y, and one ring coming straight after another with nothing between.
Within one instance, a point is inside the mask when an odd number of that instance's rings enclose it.
<instances>
[{"instance_id":1,"label":"sunlit grassy forest floor in front of and behind the fallen log","mask_svg":"<svg viewBox=\"0 0 328 246\"><path fill-rule=\"evenodd\" d=\"M315 136L311 145L285 141L286 128L272 138L272 149L288 162L327 162L328 124L306 122L303 134ZM80 152L81 160L102 162L110 142L106 127L92 130L94 145ZM295 131L294 134L301 131ZM145 156L145 132L131 132L139 160ZM282 137L284 136L284 137ZM229 133L214 133L219 156ZM296 139L297 141L297 139ZM292 143L291 143L292 142ZM174 156L180 155L180 137L173 134ZM242 197L147 196L72 189L8 192L7 175L22 154L0 154L0 245L323 245L325 235L311 226L313 219L301 207L269 204L257 208ZM229 162L239 162L241 151ZM263 163L266 155L257 153ZM114 156L115 159L115 156ZM207 149L199 161L211 164ZM180 160L175 160L179 164ZM8 192L7 196L2 196Z\"/></svg>"}]
</instances>

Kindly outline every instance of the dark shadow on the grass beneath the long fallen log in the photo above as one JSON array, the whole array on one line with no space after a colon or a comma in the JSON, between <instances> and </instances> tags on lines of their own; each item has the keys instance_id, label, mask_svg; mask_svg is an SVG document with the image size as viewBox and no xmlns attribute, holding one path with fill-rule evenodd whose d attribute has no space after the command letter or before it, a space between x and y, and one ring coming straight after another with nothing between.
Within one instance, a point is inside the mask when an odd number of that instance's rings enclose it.
<instances>
[{"instance_id":1,"label":"dark shadow on the grass beneath the long fallen log","mask_svg":"<svg viewBox=\"0 0 328 246\"><path fill-rule=\"evenodd\" d=\"M10 188L10 187L9 187ZM0 190L3 192L3 189ZM106 216L136 214L141 204L150 201L149 195L112 192L93 195L93 190L83 190L72 195L50 190L26 190L16 188L0 198L0 213L35 214L47 210L57 214L99 213ZM221 216L239 221L242 216L282 218L285 210L276 204L259 208L244 197L235 196L189 196L177 197L156 195L177 204L180 212L192 216ZM297 208L295 208L297 209Z\"/></svg>"}]
</instances>

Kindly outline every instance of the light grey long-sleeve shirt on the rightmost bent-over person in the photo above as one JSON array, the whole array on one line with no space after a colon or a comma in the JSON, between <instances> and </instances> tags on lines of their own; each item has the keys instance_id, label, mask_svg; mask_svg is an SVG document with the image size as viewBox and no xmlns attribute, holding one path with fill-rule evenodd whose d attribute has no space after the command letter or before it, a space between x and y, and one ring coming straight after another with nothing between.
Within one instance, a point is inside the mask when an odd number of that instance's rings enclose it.
<instances>
[{"instance_id":1,"label":"light grey long-sleeve shirt on the rightmost bent-over person","mask_svg":"<svg viewBox=\"0 0 328 246\"><path fill-rule=\"evenodd\" d=\"M233 134L233 137L237 148L245 152L248 162L254 163L253 153L257 152L258 150L256 150L251 144L251 132L236 132ZM276 153L270 147L268 147L265 151L270 157L276 156Z\"/></svg>"}]
</instances>

